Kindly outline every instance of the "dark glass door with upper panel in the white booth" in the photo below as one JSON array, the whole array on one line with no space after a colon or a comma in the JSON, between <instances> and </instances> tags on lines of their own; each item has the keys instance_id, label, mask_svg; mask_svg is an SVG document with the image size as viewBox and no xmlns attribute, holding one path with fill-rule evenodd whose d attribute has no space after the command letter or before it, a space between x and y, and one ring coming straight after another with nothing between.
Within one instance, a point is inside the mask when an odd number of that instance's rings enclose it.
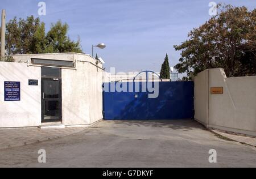
<instances>
[{"instance_id":1,"label":"dark glass door with upper panel in the white booth","mask_svg":"<svg viewBox=\"0 0 256 179\"><path fill-rule=\"evenodd\" d=\"M42 67L42 122L61 122L61 69Z\"/></svg>"}]
</instances>

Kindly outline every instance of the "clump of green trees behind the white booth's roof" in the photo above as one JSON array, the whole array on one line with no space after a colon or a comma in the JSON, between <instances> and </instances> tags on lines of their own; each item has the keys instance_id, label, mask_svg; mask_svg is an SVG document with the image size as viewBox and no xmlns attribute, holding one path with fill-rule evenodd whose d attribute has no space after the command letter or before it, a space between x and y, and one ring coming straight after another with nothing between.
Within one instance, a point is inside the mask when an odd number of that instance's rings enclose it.
<instances>
[{"instance_id":1,"label":"clump of green trees behind the white booth's roof","mask_svg":"<svg viewBox=\"0 0 256 179\"><path fill-rule=\"evenodd\" d=\"M82 53L80 39L72 41L67 33L68 24L60 21L52 24L46 34L45 24L39 18L14 18L6 24L7 54Z\"/></svg>"}]
</instances>

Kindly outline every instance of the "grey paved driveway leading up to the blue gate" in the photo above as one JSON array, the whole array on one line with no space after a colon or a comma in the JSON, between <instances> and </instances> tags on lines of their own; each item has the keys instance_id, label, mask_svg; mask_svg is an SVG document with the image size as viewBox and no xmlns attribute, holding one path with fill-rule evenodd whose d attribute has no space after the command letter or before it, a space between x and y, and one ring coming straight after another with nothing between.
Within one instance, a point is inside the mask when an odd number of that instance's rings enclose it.
<instances>
[{"instance_id":1,"label":"grey paved driveway leading up to the blue gate","mask_svg":"<svg viewBox=\"0 0 256 179\"><path fill-rule=\"evenodd\" d=\"M208 161L217 150L217 163ZM47 163L38 163L45 149ZM0 150L0 167L256 167L255 147L216 137L199 123L101 121L80 133Z\"/></svg>"}]
</instances>

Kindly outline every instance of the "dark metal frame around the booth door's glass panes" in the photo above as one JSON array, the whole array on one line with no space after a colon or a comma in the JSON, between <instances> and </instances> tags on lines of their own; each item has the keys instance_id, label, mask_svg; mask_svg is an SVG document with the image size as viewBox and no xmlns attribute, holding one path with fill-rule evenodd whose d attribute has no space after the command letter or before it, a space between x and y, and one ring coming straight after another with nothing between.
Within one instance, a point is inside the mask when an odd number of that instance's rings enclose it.
<instances>
[{"instance_id":1,"label":"dark metal frame around the booth door's glass panes","mask_svg":"<svg viewBox=\"0 0 256 179\"><path fill-rule=\"evenodd\" d=\"M44 80L54 80L57 77L42 77L41 78L41 122L63 122L62 119L62 80L61 80L61 69L60 69L60 77L58 77L59 82L59 99L44 99L43 98L43 82ZM58 120L44 120L44 110L45 110L45 101L59 101L59 119Z\"/></svg>"}]
</instances>

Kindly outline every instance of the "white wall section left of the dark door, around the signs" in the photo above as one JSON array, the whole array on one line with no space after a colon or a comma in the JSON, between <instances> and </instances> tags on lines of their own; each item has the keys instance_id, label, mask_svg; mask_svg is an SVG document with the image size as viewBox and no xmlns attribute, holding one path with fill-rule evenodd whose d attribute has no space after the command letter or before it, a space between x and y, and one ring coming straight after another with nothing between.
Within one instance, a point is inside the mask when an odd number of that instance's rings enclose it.
<instances>
[{"instance_id":1,"label":"white wall section left of the dark door, around the signs","mask_svg":"<svg viewBox=\"0 0 256 179\"><path fill-rule=\"evenodd\" d=\"M38 86L28 86L38 79ZM20 82L20 101L5 101L4 82ZM41 124L41 69L24 63L0 62L0 127L31 127Z\"/></svg>"}]
</instances>

